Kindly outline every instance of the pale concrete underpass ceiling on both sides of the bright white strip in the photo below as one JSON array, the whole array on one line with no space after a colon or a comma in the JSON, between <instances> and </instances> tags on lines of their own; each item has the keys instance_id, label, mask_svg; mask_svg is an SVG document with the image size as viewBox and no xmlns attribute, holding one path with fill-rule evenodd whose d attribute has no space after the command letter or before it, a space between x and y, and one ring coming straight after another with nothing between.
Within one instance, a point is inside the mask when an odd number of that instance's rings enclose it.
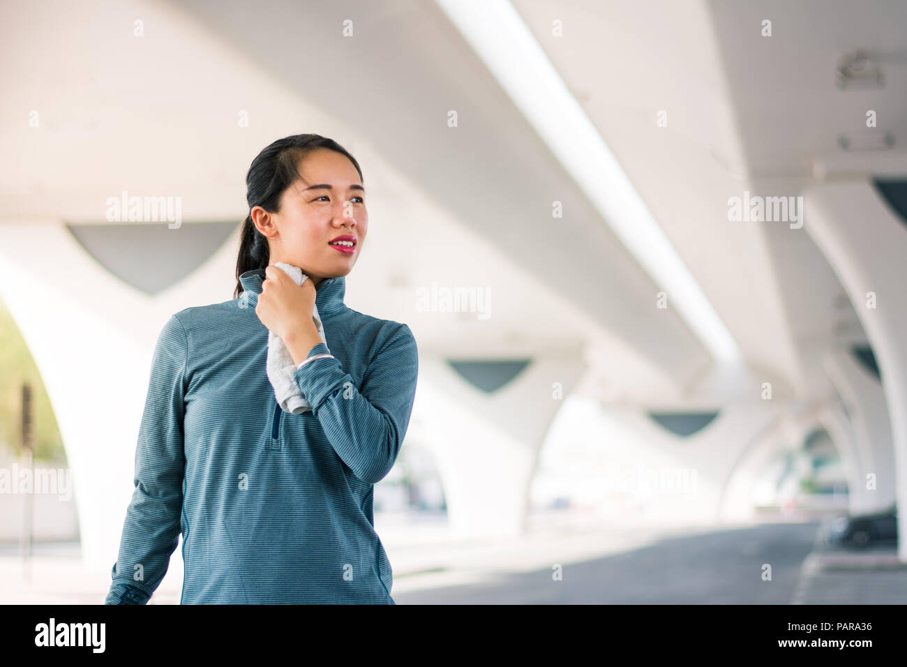
<instances>
[{"instance_id":1,"label":"pale concrete underpass ceiling on both sides of the bright white strip","mask_svg":"<svg viewBox=\"0 0 907 667\"><path fill-rule=\"evenodd\" d=\"M705 4L665 5L653 14L630 2L514 3L747 361L795 379L791 277L765 230L727 221L748 157L720 30L717 43ZM594 348L600 374L639 400L679 395L709 367L676 311L654 307L661 288L433 3L126 2L92 21L88 4L26 6L0 26L11 56L0 64L0 139L24 156L0 167L5 219L98 222L121 190L179 194L191 184L184 225L240 221L255 154L316 131L356 154L371 195L347 303L412 323L421 350ZM570 39L550 36L552 11ZM346 18L354 39L341 34ZM30 109L42 111L44 132L25 126ZM239 110L249 128L237 128ZM667 128L655 123L659 110ZM551 218L555 200L562 219ZM822 263L816 253L810 261ZM833 275L822 280L823 299L840 292ZM433 282L490 289L493 317L417 312L414 289Z\"/></svg>"}]
</instances>

